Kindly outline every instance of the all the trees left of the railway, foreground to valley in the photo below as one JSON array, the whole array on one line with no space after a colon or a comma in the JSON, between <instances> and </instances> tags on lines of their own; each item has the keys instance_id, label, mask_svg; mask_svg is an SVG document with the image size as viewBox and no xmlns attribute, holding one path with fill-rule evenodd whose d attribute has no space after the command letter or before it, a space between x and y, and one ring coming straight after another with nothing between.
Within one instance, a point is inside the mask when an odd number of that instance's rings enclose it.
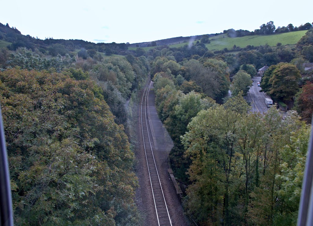
<instances>
[{"instance_id":1,"label":"all the trees left of the railway, foreground to valley","mask_svg":"<svg viewBox=\"0 0 313 226\"><path fill-rule=\"evenodd\" d=\"M127 101L149 62L47 54L0 50L15 224L141 224Z\"/></svg>"}]
</instances>

